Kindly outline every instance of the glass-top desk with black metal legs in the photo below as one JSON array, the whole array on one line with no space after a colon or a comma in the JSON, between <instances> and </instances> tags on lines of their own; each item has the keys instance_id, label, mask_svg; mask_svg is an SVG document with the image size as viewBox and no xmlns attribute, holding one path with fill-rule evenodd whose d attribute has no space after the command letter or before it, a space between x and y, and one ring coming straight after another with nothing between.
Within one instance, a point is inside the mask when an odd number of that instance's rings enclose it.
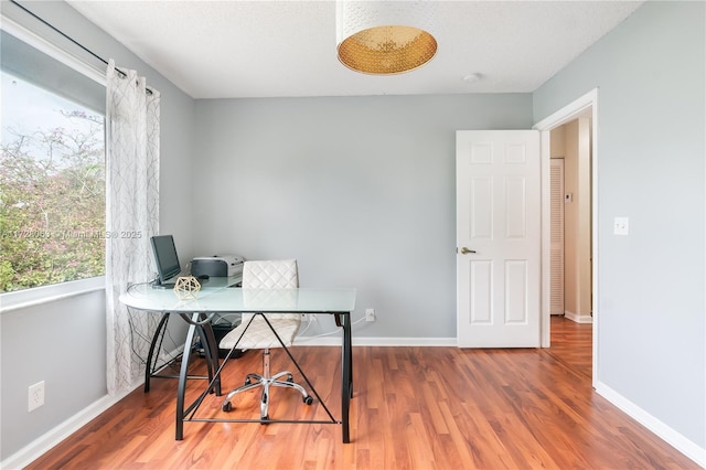
<instances>
[{"instance_id":1,"label":"glass-top desk with black metal legs","mask_svg":"<svg viewBox=\"0 0 706 470\"><path fill-rule=\"evenodd\" d=\"M127 307L156 311L162 313L179 314L189 323L184 351L191 346L195 331L204 329L207 348L204 348L208 367L215 371L213 378L203 391L201 396L189 407L184 405L186 389L189 356L184 354L179 374L179 386L176 391L176 432L175 439L183 439L184 421L223 421L243 423L260 420L244 419L204 419L196 418L195 412L211 391L221 395L220 373L227 359L218 366L218 345L215 344L215 337L211 329L211 319L217 313L240 312L240 313L311 313L335 316L336 325L342 327L343 344L341 354L341 420L333 418L331 421L303 421L303 423L332 423L340 424L342 428L343 442L350 442L349 412L351 397L353 395L353 354L351 344L351 312L355 308L355 289L242 289L228 287L229 278L208 279L207 284L201 288L194 299L179 299L172 290L153 289L150 286L140 285L132 287L128 292L120 296L120 301ZM315 394L315 391L314 391ZM315 394L318 395L318 394ZM321 402L321 399L319 398ZM321 404L325 405L321 402ZM328 408L325 408L328 412ZM277 423L277 420L271 420ZM292 423L292 421L284 421Z\"/></svg>"}]
</instances>

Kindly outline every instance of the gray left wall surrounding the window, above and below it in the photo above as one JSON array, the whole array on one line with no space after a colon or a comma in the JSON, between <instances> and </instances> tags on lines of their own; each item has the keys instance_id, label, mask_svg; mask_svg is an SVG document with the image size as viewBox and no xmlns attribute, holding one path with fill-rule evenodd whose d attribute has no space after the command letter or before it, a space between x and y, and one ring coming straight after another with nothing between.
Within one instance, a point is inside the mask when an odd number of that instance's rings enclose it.
<instances>
[{"instance_id":1,"label":"gray left wall surrounding the window, above and below it","mask_svg":"<svg viewBox=\"0 0 706 470\"><path fill-rule=\"evenodd\" d=\"M184 214L194 211L190 193L194 100L66 3L23 4L104 58L138 70L162 94L160 191L169 203L161 206L160 226L163 233L174 234L184 258L191 258L193 229L190 215ZM105 70L103 63L10 2L3 0L1 8L38 35ZM0 460L4 460L105 396L105 293L2 312L0 330ZM172 337L183 331L176 328ZM40 381L46 384L45 405L28 413L28 387Z\"/></svg>"}]
</instances>

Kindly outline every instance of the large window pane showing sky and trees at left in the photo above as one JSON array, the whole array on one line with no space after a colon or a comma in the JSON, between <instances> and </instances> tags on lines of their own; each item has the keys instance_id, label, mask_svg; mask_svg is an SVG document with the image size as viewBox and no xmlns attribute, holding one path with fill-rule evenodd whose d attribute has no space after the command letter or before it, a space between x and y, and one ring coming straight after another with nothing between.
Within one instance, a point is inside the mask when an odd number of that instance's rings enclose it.
<instances>
[{"instance_id":1,"label":"large window pane showing sky and trees at left","mask_svg":"<svg viewBox=\"0 0 706 470\"><path fill-rule=\"evenodd\" d=\"M0 291L105 274L105 86L2 31Z\"/></svg>"}]
</instances>

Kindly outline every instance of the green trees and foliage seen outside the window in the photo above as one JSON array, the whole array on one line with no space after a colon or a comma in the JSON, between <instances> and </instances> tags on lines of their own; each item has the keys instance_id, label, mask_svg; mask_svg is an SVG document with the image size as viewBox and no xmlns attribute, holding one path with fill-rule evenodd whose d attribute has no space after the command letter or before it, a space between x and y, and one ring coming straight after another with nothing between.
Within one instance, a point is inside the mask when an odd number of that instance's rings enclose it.
<instances>
[{"instance_id":1,"label":"green trees and foliage seen outside the window","mask_svg":"<svg viewBox=\"0 0 706 470\"><path fill-rule=\"evenodd\" d=\"M3 129L2 292L105 274L104 119L57 113L65 127Z\"/></svg>"}]
</instances>

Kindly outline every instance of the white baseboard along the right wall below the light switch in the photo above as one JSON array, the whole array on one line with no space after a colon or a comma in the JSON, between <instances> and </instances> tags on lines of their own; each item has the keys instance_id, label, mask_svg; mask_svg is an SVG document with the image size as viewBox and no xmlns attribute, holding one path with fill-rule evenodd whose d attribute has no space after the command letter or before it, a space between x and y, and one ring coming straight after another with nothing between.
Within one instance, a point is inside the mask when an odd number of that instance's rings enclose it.
<instances>
[{"instance_id":1,"label":"white baseboard along the right wall below the light switch","mask_svg":"<svg viewBox=\"0 0 706 470\"><path fill-rule=\"evenodd\" d=\"M654 416L650 415L648 412L640 408L638 405L630 402L618 392L610 388L608 385L599 382L596 385L596 393L630 415L630 417L650 429L650 431L664 440L666 444L674 447L676 450L678 450L689 459L694 460L697 464L706 468L706 449L698 447L697 444L692 442L689 439L682 436Z\"/></svg>"}]
</instances>

